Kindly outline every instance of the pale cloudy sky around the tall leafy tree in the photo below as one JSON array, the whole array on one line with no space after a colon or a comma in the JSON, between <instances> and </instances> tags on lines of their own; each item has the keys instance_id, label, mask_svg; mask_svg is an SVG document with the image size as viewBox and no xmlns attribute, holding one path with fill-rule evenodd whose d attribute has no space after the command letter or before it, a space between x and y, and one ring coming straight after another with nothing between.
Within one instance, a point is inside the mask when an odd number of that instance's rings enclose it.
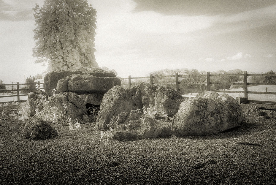
<instances>
[{"instance_id":1,"label":"pale cloudy sky around the tall leafy tree","mask_svg":"<svg viewBox=\"0 0 276 185\"><path fill-rule=\"evenodd\" d=\"M120 77L159 69L276 71L276 0L88 0L97 10L96 61ZM32 8L0 0L0 79L24 82L47 66L32 57Z\"/></svg>"}]
</instances>

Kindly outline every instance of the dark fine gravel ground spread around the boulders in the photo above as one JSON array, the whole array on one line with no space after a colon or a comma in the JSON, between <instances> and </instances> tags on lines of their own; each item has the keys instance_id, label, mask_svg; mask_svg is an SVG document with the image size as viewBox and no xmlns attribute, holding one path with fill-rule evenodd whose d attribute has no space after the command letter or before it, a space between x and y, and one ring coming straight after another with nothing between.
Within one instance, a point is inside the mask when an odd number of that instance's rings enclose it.
<instances>
[{"instance_id":1,"label":"dark fine gravel ground spread around the boulders","mask_svg":"<svg viewBox=\"0 0 276 185\"><path fill-rule=\"evenodd\" d=\"M214 135L128 142L101 139L93 123L54 124L58 136L27 140L26 121L10 115L18 109L0 107L0 184L276 184L275 119L245 116Z\"/></svg>"}]
</instances>

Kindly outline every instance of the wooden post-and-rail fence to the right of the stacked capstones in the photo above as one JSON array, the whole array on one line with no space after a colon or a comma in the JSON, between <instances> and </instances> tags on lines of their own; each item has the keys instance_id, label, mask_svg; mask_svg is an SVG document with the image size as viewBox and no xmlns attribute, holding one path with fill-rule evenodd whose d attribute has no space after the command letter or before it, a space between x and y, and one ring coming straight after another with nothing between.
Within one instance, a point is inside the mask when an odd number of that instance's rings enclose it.
<instances>
[{"instance_id":1,"label":"wooden post-and-rail fence to the right of the stacked capstones","mask_svg":"<svg viewBox=\"0 0 276 185\"><path fill-rule=\"evenodd\" d=\"M179 77L185 77L185 76L190 76L190 75L178 75L178 72L175 73L175 75L168 75L168 76L163 76L163 77L174 77L175 78L175 90L179 92ZM205 76L205 75L201 75L201 76ZM225 77L225 76L240 76L243 77L243 83L225 83L225 82L211 82L210 81L210 77ZM248 100L248 94L271 94L271 95L276 95L276 92L259 92L259 91L248 91L248 86L257 86L257 85L276 85L276 83L248 83L248 76L272 76L272 77L276 77L276 74L248 74L247 71L244 71L243 74L210 74L210 72L206 73L206 89L207 91L210 91L210 85L216 85L216 84L225 84L225 85L242 85L244 88L244 91L226 91L226 90L215 90L218 93L244 93L244 101L245 103L247 102L256 102L256 103L272 103L272 104L276 104L276 101L258 101L258 100ZM162 77L162 78L163 78ZM134 85L135 83L131 83L131 79L143 79L143 78L150 78L150 84L154 84L153 83L153 78L154 77L152 74L149 77L131 77L129 76L128 78L122 78L124 79L128 79L128 87L130 88L131 85ZM186 84L186 83L185 83ZM191 83L196 85L196 83ZM199 93L202 92L204 90L190 90L189 92L194 92L194 93ZM276 99L275 99L276 100Z\"/></svg>"}]
</instances>

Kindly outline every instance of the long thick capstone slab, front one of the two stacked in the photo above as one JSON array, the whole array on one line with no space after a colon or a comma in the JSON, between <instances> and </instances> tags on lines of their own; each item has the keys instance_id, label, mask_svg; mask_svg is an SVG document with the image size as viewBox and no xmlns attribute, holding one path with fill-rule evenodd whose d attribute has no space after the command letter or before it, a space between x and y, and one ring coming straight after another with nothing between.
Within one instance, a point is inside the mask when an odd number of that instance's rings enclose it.
<instances>
[{"instance_id":1,"label":"long thick capstone slab, front one of the two stacked","mask_svg":"<svg viewBox=\"0 0 276 185\"><path fill-rule=\"evenodd\" d=\"M58 80L59 92L71 91L77 94L106 93L113 86L121 85L117 77L97 77L90 74L74 74Z\"/></svg>"}]
</instances>

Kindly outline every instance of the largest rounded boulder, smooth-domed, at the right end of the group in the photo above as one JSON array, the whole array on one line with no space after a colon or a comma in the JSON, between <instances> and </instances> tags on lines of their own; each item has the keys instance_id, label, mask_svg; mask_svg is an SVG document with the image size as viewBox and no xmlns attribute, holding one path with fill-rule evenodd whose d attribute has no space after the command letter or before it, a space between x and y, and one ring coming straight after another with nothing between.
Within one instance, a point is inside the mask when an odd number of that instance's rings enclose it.
<instances>
[{"instance_id":1,"label":"largest rounded boulder, smooth-domed, at the right end of the group","mask_svg":"<svg viewBox=\"0 0 276 185\"><path fill-rule=\"evenodd\" d=\"M242 122L242 108L227 94L188 99L173 117L176 136L210 135L237 127ZM212 97L212 98L210 98Z\"/></svg>"}]
</instances>

